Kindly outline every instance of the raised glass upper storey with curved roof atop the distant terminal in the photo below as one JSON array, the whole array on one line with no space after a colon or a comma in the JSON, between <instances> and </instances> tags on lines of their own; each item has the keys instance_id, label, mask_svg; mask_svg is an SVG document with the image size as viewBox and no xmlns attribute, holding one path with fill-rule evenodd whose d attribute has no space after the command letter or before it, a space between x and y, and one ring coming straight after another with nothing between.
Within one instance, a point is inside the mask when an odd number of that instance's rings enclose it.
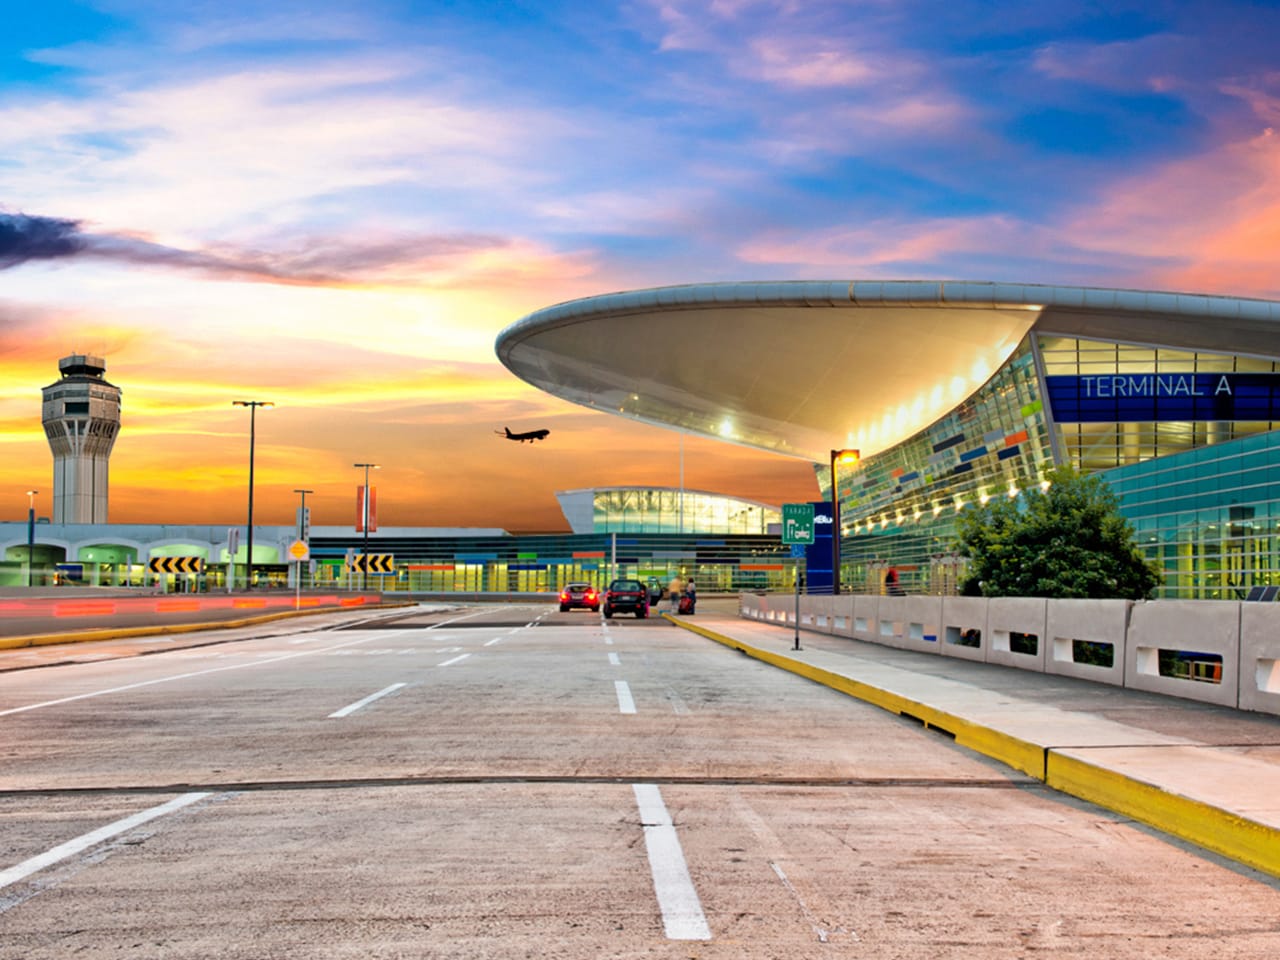
<instances>
[{"instance_id":1,"label":"raised glass upper storey with curved roof atop the distant terminal","mask_svg":"<svg viewBox=\"0 0 1280 960\"><path fill-rule=\"evenodd\" d=\"M777 535L778 507L708 490L602 486L556 494L575 534Z\"/></svg>"}]
</instances>

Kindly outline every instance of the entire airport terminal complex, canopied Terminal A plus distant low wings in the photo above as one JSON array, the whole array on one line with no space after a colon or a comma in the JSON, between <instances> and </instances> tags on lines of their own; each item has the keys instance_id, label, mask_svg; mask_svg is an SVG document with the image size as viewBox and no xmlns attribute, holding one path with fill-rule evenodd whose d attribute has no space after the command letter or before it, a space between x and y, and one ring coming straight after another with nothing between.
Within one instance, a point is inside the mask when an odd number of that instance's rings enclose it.
<instances>
[{"instance_id":1,"label":"entire airport terminal complex, canopied Terminal A plus distant low wings","mask_svg":"<svg viewBox=\"0 0 1280 960\"><path fill-rule=\"evenodd\" d=\"M613 349L637 330L682 348ZM495 347L557 397L812 462L826 513L838 498L838 576L855 593L879 593L888 566L909 593L955 593L956 515L1018 497L1057 465L1107 480L1164 571L1160 595L1280 585L1277 302L972 282L692 284L547 307ZM790 589L778 504L731 493L568 490L557 497L571 534L379 530L370 554L389 558L380 585L413 593L676 573L710 590ZM261 582L291 582L294 538L255 527ZM204 586L220 589L243 576L234 547L228 527L0 524L0 582L41 571L141 585L152 558L198 556ZM361 549L352 529L314 529L303 581L352 582Z\"/></svg>"}]
</instances>

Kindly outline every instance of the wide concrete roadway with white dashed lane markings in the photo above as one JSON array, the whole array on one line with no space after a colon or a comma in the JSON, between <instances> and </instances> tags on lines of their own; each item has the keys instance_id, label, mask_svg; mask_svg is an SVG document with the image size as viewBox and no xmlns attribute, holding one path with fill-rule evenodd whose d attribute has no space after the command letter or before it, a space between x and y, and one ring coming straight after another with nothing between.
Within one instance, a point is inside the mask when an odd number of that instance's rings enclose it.
<instances>
[{"instance_id":1,"label":"wide concrete roadway with white dashed lane markings","mask_svg":"<svg viewBox=\"0 0 1280 960\"><path fill-rule=\"evenodd\" d=\"M1268 877L666 620L163 643L0 672L0 960L1280 955Z\"/></svg>"}]
</instances>

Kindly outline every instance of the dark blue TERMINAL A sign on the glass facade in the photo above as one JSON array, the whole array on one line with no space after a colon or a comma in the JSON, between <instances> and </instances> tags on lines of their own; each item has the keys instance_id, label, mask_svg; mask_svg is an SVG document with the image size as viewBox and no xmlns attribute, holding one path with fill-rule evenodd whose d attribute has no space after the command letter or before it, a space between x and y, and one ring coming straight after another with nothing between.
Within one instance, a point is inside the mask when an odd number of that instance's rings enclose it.
<instances>
[{"instance_id":1,"label":"dark blue TERMINAL A sign on the glass facade","mask_svg":"<svg viewBox=\"0 0 1280 960\"><path fill-rule=\"evenodd\" d=\"M1046 376L1060 424L1280 420L1280 374Z\"/></svg>"}]
</instances>

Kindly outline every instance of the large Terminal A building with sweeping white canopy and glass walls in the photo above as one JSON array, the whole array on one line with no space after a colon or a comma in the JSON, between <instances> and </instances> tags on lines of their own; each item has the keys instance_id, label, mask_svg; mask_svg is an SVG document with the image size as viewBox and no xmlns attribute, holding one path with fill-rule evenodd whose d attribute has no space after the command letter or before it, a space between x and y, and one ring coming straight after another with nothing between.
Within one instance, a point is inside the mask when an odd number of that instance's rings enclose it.
<instances>
[{"instance_id":1,"label":"large Terminal A building with sweeping white canopy and glass walls","mask_svg":"<svg viewBox=\"0 0 1280 960\"><path fill-rule=\"evenodd\" d=\"M636 329L681 348L607 348ZM838 498L838 575L852 590L878 590L893 564L911 593L954 593L956 515L1057 465L1107 480L1164 571L1162 595L1244 599L1280 584L1277 302L709 283L550 306L495 346L557 397L810 461ZM849 449L856 463L838 457Z\"/></svg>"}]
</instances>

